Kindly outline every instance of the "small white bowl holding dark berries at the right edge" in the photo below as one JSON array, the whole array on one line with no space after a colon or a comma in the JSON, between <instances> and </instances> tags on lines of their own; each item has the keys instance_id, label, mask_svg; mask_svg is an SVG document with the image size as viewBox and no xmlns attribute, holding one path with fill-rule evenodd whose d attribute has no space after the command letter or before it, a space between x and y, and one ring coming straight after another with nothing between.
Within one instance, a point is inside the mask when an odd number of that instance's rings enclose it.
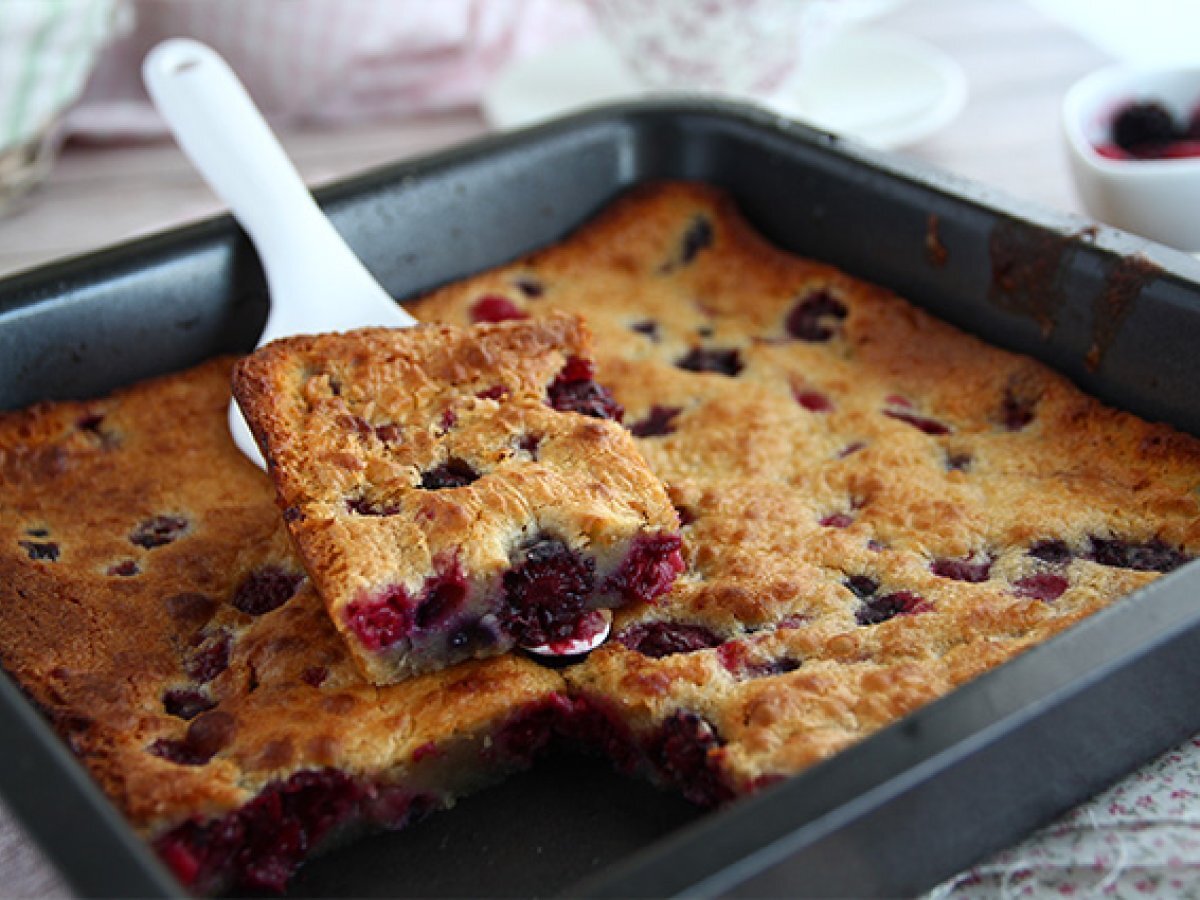
<instances>
[{"instance_id":1,"label":"small white bowl holding dark berries at the right edge","mask_svg":"<svg viewBox=\"0 0 1200 900\"><path fill-rule=\"evenodd\" d=\"M1108 224L1200 251L1200 157L1111 160L1112 116L1126 103L1158 101L1186 122L1200 103L1200 66L1112 66L1076 82L1062 104L1070 169L1084 208Z\"/></svg>"}]
</instances>

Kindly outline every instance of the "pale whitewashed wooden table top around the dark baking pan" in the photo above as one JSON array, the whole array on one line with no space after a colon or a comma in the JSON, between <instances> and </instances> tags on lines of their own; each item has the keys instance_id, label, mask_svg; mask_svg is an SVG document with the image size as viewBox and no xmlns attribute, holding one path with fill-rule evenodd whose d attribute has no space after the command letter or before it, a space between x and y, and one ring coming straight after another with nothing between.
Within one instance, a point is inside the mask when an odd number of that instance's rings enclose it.
<instances>
[{"instance_id":1,"label":"pale whitewashed wooden table top around the dark baking pan","mask_svg":"<svg viewBox=\"0 0 1200 900\"><path fill-rule=\"evenodd\" d=\"M970 98L938 134L901 152L1061 210L1079 211L1058 132L1067 86L1106 58L1019 0L916 0L880 23L937 44L962 66ZM482 134L478 110L295 131L282 140L312 185ZM66 148L48 184L0 218L0 275L222 209L169 143ZM0 808L0 896L67 888Z\"/></svg>"}]
</instances>

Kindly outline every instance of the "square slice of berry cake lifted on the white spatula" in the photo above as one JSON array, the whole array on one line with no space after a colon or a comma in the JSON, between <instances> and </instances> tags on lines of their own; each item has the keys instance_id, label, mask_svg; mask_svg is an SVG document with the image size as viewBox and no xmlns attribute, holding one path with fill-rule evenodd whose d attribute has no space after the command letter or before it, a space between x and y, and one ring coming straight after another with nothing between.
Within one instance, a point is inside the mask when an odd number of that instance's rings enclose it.
<instances>
[{"instance_id":1,"label":"square slice of berry cake lifted on the white spatula","mask_svg":"<svg viewBox=\"0 0 1200 900\"><path fill-rule=\"evenodd\" d=\"M289 338L242 361L234 392L376 683L574 644L596 610L653 601L683 568L577 317Z\"/></svg>"}]
</instances>

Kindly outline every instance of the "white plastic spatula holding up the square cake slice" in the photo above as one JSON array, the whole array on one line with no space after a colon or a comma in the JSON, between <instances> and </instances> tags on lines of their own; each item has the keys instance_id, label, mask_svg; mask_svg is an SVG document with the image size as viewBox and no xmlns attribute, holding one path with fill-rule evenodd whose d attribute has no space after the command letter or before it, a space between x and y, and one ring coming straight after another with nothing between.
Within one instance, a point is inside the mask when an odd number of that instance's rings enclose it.
<instances>
[{"instance_id":1,"label":"white plastic spatula holding up the square cake slice","mask_svg":"<svg viewBox=\"0 0 1200 900\"><path fill-rule=\"evenodd\" d=\"M220 54L198 41L163 41L142 77L175 140L254 242L271 301L259 347L288 335L416 324L320 211ZM265 468L236 403L229 431Z\"/></svg>"}]
</instances>

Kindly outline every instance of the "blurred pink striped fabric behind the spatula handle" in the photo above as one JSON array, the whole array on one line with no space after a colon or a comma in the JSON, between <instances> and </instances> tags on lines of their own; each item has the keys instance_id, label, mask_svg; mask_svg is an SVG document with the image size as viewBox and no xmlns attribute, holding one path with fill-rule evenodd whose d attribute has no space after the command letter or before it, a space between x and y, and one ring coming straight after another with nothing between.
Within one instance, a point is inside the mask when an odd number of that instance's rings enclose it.
<instances>
[{"instance_id":1,"label":"blurred pink striped fabric behind the spatula handle","mask_svg":"<svg viewBox=\"0 0 1200 900\"><path fill-rule=\"evenodd\" d=\"M560 0L134 0L133 11L134 30L68 118L77 137L164 133L139 66L166 37L214 47L272 121L332 124L472 106L504 64L590 29Z\"/></svg>"}]
</instances>

